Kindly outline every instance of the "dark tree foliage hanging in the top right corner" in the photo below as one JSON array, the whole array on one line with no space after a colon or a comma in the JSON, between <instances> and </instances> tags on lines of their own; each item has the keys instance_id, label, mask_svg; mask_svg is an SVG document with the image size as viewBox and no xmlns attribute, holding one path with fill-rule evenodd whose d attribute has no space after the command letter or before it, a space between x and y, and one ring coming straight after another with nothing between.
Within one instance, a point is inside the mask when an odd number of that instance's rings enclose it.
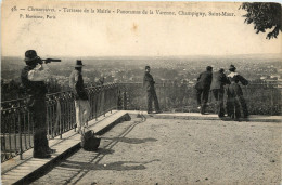
<instances>
[{"instance_id":1,"label":"dark tree foliage hanging in the top right corner","mask_svg":"<svg viewBox=\"0 0 282 185\"><path fill-rule=\"evenodd\" d=\"M274 2L244 2L240 9L247 11L243 17L245 23L254 23L256 34L266 32L266 29L272 29L268 32L266 39L277 38L279 31L282 31L281 4Z\"/></svg>"}]
</instances>

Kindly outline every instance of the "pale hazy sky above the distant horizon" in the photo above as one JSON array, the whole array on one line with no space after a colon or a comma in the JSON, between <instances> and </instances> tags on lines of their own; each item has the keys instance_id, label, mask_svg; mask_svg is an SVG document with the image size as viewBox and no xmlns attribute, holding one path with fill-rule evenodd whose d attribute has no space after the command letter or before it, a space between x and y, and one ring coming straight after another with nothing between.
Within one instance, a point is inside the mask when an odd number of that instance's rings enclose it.
<instances>
[{"instance_id":1,"label":"pale hazy sky above the distant horizon","mask_svg":"<svg viewBox=\"0 0 282 185\"><path fill-rule=\"evenodd\" d=\"M28 3L27 3L28 2ZM9 1L2 4L2 55L23 56L28 49L41 56L170 56L281 54L281 32L268 40L244 23L241 3L223 2L47 2ZM16 5L17 11L11 9ZM21 11L54 8L55 13ZM110 9L111 14L62 13L63 8ZM59 12L59 9L61 12ZM117 14L120 10L152 10L153 15ZM156 10L176 15L157 15ZM178 15L179 11L204 12L205 17ZM231 12L235 16L208 16L208 12ZM20 14L54 15L55 19L20 18Z\"/></svg>"}]
</instances>

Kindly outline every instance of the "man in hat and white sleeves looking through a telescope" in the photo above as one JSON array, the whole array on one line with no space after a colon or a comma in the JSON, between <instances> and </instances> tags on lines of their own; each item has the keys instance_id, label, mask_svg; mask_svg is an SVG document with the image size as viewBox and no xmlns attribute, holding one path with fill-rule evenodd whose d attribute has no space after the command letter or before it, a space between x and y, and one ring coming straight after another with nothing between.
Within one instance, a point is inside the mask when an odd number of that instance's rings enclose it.
<instances>
[{"instance_id":1,"label":"man in hat and white sleeves looking through a telescope","mask_svg":"<svg viewBox=\"0 0 282 185\"><path fill-rule=\"evenodd\" d=\"M26 66L22 70L22 85L29 96L27 107L31 113L34 122L34 157L49 158L54 149L51 149L47 140L46 122L46 93L44 79L49 78L50 70L35 50L25 52Z\"/></svg>"}]
</instances>

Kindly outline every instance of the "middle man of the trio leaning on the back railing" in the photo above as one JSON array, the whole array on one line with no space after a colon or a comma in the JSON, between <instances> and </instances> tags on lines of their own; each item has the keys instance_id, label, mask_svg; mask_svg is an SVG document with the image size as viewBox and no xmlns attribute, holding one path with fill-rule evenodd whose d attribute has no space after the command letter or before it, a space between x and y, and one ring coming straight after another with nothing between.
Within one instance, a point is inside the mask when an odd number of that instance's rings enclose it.
<instances>
[{"instance_id":1,"label":"middle man of the trio leaning on the back railing","mask_svg":"<svg viewBox=\"0 0 282 185\"><path fill-rule=\"evenodd\" d=\"M216 113L218 117L221 118L225 116L225 107L223 107L223 95L225 95L225 84L230 84L227 76L225 75L225 69L219 69L218 71L213 74L213 80L210 90L216 100Z\"/></svg>"}]
</instances>

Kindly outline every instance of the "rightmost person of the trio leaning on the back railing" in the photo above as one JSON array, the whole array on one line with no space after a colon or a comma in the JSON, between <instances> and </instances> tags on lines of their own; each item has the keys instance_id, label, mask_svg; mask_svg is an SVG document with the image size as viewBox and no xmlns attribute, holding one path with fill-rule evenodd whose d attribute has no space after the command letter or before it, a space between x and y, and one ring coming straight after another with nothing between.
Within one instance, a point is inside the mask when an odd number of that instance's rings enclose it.
<instances>
[{"instance_id":1,"label":"rightmost person of the trio leaning on the back railing","mask_svg":"<svg viewBox=\"0 0 282 185\"><path fill-rule=\"evenodd\" d=\"M230 65L229 67L230 74L228 75L228 79L230 81L230 85L227 89L227 111L228 116L234 119L239 119L241 117L241 108L243 110L243 117L247 118L248 111L245 98L243 96L243 91L241 87L239 85L239 82L241 82L243 85L247 85L248 81L235 72L236 68L234 65Z\"/></svg>"}]
</instances>

